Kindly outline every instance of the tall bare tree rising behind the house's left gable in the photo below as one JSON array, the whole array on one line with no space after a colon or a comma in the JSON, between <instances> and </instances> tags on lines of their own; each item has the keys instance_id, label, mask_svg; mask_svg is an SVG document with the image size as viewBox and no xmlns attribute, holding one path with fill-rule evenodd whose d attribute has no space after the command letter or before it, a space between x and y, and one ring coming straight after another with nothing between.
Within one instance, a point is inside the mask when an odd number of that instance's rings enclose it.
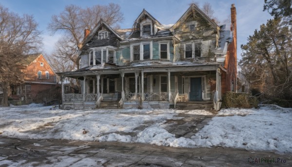
<instances>
[{"instance_id":1,"label":"tall bare tree rising behind the house's left gable","mask_svg":"<svg viewBox=\"0 0 292 167\"><path fill-rule=\"evenodd\" d=\"M62 33L62 37L55 44L55 57L71 61L69 69L79 69L77 56L78 46L84 38L84 30L92 30L99 19L105 20L109 25L118 26L123 20L123 14L118 4L94 5L82 9L76 5L68 5L59 15L52 16L48 30L52 35ZM60 67L62 68L62 67Z\"/></svg>"}]
</instances>

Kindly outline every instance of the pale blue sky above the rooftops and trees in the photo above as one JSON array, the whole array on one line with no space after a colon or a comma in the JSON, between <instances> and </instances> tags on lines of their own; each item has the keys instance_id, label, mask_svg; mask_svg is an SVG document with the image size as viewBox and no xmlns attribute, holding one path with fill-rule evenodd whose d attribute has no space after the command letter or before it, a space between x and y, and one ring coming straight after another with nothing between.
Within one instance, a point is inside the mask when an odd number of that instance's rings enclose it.
<instances>
[{"instance_id":1,"label":"pale blue sky above the rooftops and trees","mask_svg":"<svg viewBox=\"0 0 292 167\"><path fill-rule=\"evenodd\" d=\"M211 3L214 16L224 20L230 15L231 4L237 9L237 57L240 58L240 45L247 42L247 37L254 34L260 24L272 19L268 12L263 12L264 0L0 0L0 4L10 11L22 14L34 15L39 24L39 30L43 31L43 53L50 54L54 50L55 42L59 35L50 36L47 25L52 15L58 15L66 5L75 4L81 7L89 7L94 4L118 3L124 14L121 28L131 28L134 20L145 8L154 18L162 24L174 24L187 10L189 3L199 2L201 7L204 2Z\"/></svg>"}]
</instances>

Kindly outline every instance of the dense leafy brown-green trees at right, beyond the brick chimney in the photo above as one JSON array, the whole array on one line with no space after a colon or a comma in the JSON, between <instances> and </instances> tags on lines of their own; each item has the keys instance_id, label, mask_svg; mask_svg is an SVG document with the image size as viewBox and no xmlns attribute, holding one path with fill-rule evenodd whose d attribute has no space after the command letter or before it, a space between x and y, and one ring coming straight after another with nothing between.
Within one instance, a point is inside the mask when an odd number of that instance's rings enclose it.
<instances>
[{"instance_id":1,"label":"dense leafy brown-green trees at right, beyond the brick chimney","mask_svg":"<svg viewBox=\"0 0 292 167\"><path fill-rule=\"evenodd\" d=\"M264 9L272 9L275 18L262 24L248 37L247 44L241 45L243 54L238 65L251 88L260 92L257 95L262 103L279 101L275 99L289 101L292 100L292 18L287 13L292 14L291 0L265 2Z\"/></svg>"}]
</instances>

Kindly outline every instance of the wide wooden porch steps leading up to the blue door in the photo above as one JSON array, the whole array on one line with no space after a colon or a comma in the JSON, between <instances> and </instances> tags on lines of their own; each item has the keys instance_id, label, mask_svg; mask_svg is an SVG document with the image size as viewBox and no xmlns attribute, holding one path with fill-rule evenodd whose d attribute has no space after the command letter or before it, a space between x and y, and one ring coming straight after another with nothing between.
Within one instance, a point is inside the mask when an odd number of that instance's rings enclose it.
<instances>
[{"instance_id":1,"label":"wide wooden porch steps leading up to the blue door","mask_svg":"<svg viewBox=\"0 0 292 167\"><path fill-rule=\"evenodd\" d=\"M176 109L178 110L214 110L214 104L212 101L177 102Z\"/></svg>"}]
</instances>

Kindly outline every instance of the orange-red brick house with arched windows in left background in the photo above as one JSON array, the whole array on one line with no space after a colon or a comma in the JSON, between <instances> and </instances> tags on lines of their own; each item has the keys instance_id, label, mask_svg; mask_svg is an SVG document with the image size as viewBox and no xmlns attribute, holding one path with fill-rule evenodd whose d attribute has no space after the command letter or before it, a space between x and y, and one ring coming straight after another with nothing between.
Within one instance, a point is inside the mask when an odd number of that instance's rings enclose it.
<instances>
[{"instance_id":1,"label":"orange-red brick house with arched windows in left background","mask_svg":"<svg viewBox=\"0 0 292 167\"><path fill-rule=\"evenodd\" d=\"M24 57L19 62L19 69L24 74L24 83L10 85L8 96L25 102L56 98L57 77L42 54Z\"/></svg>"}]
</instances>

